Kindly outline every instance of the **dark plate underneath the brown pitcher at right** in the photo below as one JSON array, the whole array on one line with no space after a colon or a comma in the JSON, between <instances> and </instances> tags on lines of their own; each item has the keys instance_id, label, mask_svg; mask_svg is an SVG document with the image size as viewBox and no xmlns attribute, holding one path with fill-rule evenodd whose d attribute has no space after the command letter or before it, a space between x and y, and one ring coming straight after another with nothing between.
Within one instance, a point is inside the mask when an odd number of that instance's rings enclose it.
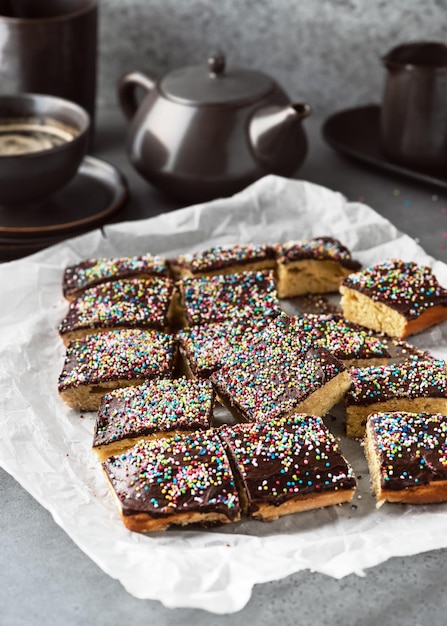
<instances>
[{"instance_id":1,"label":"dark plate underneath the brown pitcher at right","mask_svg":"<svg viewBox=\"0 0 447 626\"><path fill-rule=\"evenodd\" d=\"M323 124L325 141L337 152L367 165L447 189L446 177L392 163L379 147L380 107L369 105L340 111Z\"/></svg>"}]
</instances>

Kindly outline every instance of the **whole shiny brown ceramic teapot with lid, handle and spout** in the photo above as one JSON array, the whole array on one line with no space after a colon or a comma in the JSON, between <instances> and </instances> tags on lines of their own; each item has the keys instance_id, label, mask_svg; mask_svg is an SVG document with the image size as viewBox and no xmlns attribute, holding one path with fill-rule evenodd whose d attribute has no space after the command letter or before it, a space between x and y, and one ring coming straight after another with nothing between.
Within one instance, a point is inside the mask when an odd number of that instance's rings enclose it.
<instances>
[{"instance_id":1,"label":"whole shiny brown ceramic teapot with lid, handle and spout","mask_svg":"<svg viewBox=\"0 0 447 626\"><path fill-rule=\"evenodd\" d=\"M266 174L292 176L307 152L301 120L310 106L291 103L266 74L227 69L221 54L158 80L131 72L118 95L131 120L131 162L182 200L228 196Z\"/></svg>"}]
</instances>

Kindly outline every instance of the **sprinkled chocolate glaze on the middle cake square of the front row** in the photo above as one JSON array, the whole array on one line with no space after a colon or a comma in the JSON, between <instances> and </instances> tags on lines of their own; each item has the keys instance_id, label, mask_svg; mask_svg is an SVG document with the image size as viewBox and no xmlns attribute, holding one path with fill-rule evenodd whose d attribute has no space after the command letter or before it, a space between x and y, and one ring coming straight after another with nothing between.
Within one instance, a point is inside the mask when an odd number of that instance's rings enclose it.
<instances>
[{"instance_id":1,"label":"sprinkled chocolate glaze on the middle cake square of the front row","mask_svg":"<svg viewBox=\"0 0 447 626\"><path fill-rule=\"evenodd\" d=\"M300 496L356 486L335 437L318 417L225 426L219 434L246 490L249 514L263 504L279 506Z\"/></svg>"}]
</instances>

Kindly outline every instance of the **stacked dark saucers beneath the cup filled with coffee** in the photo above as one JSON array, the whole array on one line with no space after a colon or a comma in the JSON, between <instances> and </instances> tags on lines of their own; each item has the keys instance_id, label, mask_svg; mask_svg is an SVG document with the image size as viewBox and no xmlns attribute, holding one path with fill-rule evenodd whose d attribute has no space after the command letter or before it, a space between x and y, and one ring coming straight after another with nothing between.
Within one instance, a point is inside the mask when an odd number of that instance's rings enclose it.
<instances>
[{"instance_id":1,"label":"stacked dark saucers beneath the cup filled with coffee","mask_svg":"<svg viewBox=\"0 0 447 626\"><path fill-rule=\"evenodd\" d=\"M114 166L87 156L70 183L39 207L0 207L0 259L31 254L111 218L127 199Z\"/></svg>"}]
</instances>

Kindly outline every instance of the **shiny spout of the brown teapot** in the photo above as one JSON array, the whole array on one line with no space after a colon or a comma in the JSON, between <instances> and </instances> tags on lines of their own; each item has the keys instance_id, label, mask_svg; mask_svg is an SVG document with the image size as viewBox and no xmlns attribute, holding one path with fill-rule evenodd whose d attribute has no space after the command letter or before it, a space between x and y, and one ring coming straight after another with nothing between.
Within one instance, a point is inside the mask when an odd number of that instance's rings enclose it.
<instances>
[{"instance_id":1,"label":"shiny spout of the brown teapot","mask_svg":"<svg viewBox=\"0 0 447 626\"><path fill-rule=\"evenodd\" d=\"M301 120L311 112L303 102L262 107L255 112L249 126L251 147L268 172L290 176L304 160L307 141Z\"/></svg>"}]
</instances>

